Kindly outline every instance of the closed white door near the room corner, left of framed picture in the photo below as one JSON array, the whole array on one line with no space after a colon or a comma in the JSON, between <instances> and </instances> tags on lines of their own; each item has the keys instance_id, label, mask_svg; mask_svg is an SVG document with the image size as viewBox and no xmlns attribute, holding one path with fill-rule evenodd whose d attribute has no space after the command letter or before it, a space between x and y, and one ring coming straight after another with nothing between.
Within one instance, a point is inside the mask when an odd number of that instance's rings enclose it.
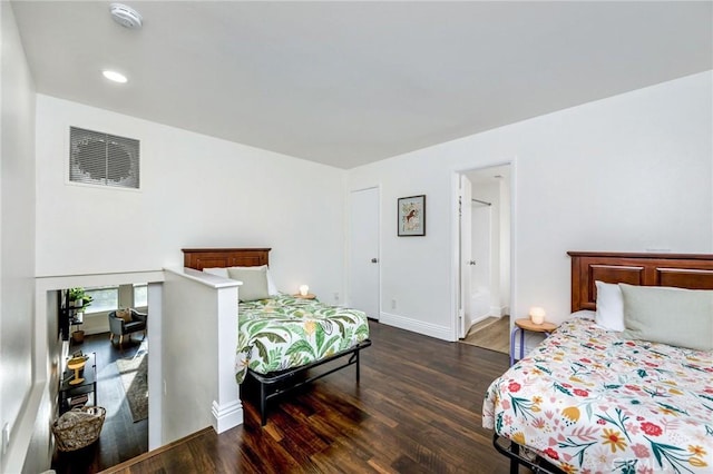
<instances>
[{"instance_id":1,"label":"closed white door near the room corner, left of framed picture","mask_svg":"<svg viewBox=\"0 0 713 474\"><path fill-rule=\"evenodd\" d=\"M350 306L379 319L379 188L351 192Z\"/></svg>"}]
</instances>

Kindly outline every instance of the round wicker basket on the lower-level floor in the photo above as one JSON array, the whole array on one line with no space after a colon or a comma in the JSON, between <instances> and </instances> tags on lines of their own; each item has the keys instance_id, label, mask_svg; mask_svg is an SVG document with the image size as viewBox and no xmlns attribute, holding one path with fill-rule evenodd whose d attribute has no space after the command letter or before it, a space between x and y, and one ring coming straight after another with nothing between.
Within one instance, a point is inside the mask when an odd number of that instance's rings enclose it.
<instances>
[{"instance_id":1,"label":"round wicker basket on the lower-level floor","mask_svg":"<svg viewBox=\"0 0 713 474\"><path fill-rule=\"evenodd\" d=\"M72 408L52 423L59 451L76 451L99 438L107 411L101 406Z\"/></svg>"}]
</instances>

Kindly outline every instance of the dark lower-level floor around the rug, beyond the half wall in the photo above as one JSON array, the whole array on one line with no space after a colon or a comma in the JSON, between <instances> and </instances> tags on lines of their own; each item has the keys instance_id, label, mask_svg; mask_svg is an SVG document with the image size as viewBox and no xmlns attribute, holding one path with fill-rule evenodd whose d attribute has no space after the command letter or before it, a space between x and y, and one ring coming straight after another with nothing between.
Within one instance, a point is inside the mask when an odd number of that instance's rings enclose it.
<instances>
[{"instance_id":1,"label":"dark lower-level floor around the rug, beyond the half wall","mask_svg":"<svg viewBox=\"0 0 713 474\"><path fill-rule=\"evenodd\" d=\"M141 335L133 337L131 342L125 337L123 349L109 342L109 333L86 336L84 343L71 345L70 353L77 349L96 352L97 404L107 409L107 415L96 443L75 452L55 454L52 468L58 474L96 473L148 451L148 419L133 422L114 364L117 358L133 357L139 349Z\"/></svg>"}]
</instances>

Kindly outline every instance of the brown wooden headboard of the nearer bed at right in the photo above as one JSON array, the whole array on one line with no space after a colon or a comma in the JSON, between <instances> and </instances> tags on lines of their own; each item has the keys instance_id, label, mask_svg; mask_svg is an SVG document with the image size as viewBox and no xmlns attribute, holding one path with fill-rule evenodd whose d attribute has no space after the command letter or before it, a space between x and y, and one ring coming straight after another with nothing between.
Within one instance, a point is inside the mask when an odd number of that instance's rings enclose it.
<instances>
[{"instance_id":1,"label":"brown wooden headboard of the nearer bed at right","mask_svg":"<svg viewBox=\"0 0 713 474\"><path fill-rule=\"evenodd\" d=\"M713 255L568 251L572 312L596 309L595 280L713 289Z\"/></svg>"}]
</instances>

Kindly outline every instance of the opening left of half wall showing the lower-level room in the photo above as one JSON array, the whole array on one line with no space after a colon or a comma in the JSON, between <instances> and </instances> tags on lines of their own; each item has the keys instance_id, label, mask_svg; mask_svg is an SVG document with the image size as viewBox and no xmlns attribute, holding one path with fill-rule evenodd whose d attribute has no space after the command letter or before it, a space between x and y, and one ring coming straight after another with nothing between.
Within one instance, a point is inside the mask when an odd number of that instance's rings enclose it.
<instances>
[{"instance_id":1,"label":"opening left of half wall showing the lower-level room","mask_svg":"<svg viewBox=\"0 0 713 474\"><path fill-rule=\"evenodd\" d=\"M56 290L59 333L69 362L61 374L58 415L98 406L99 440L85 450L57 451L58 474L96 472L148 451L148 284ZM80 374L71 361L85 359Z\"/></svg>"}]
</instances>

